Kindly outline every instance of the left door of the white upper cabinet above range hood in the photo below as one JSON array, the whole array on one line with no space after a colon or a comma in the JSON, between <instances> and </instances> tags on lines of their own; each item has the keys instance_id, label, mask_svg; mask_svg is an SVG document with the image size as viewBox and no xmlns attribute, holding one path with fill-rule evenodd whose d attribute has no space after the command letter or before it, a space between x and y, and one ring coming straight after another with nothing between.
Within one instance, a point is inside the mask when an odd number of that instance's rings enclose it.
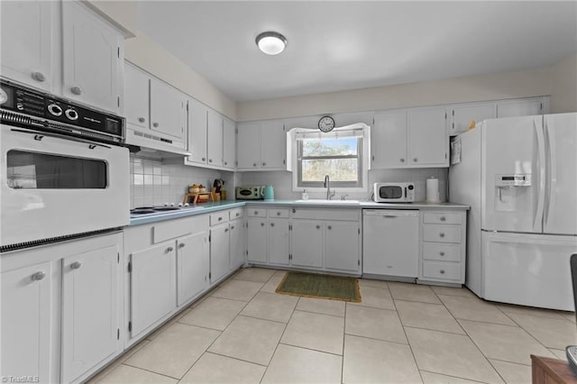
<instances>
[{"instance_id":1,"label":"left door of the white upper cabinet above range hood","mask_svg":"<svg viewBox=\"0 0 577 384\"><path fill-rule=\"evenodd\" d=\"M126 123L139 131L148 131L149 125L149 82L142 70L124 64L124 116Z\"/></svg>"}]
</instances>

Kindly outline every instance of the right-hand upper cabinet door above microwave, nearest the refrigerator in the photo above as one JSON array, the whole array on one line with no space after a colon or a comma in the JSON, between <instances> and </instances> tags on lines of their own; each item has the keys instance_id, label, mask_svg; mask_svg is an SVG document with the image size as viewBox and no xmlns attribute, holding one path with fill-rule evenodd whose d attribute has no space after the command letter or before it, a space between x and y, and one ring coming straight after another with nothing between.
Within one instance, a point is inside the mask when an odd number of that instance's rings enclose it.
<instances>
[{"instance_id":1,"label":"right-hand upper cabinet door above microwave, nearest the refrigerator","mask_svg":"<svg viewBox=\"0 0 577 384\"><path fill-rule=\"evenodd\" d=\"M444 109L408 113L408 164L412 167L448 167L449 138Z\"/></svg>"}]
</instances>

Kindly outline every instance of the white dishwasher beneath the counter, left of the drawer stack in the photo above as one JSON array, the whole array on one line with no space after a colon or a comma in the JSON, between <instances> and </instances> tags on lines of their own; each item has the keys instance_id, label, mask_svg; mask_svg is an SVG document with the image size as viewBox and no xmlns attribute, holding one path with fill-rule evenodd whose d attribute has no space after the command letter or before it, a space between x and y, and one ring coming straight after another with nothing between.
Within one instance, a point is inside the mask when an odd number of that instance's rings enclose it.
<instances>
[{"instance_id":1,"label":"white dishwasher beneath the counter, left of the drawer stack","mask_svg":"<svg viewBox=\"0 0 577 384\"><path fill-rule=\"evenodd\" d=\"M362 210L362 273L417 278L417 210Z\"/></svg>"}]
</instances>

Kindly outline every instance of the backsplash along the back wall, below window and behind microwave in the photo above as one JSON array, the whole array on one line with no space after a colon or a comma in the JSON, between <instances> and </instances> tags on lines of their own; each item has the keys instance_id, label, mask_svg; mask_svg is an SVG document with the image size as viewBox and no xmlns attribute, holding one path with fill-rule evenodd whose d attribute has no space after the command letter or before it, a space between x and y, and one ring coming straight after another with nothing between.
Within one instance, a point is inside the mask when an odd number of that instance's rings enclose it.
<instances>
[{"instance_id":1,"label":"backsplash along the back wall, below window and behind microwave","mask_svg":"<svg viewBox=\"0 0 577 384\"><path fill-rule=\"evenodd\" d=\"M446 201L446 180L448 169L444 168L427 168L427 169L372 169L369 171L369 186L365 192L346 192L347 198L368 200L372 196L372 184L376 182L415 182L416 201L426 200L426 178L435 176L439 179L439 197L441 201ZM267 172L243 172L240 174L238 185L243 186L260 186L272 185L274 195L280 200L297 200L300 198L302 191L293 192L292 174L288 171L267 171ZM332 188L336 191L334 198L340 198L343 193L339 188ZM325 198L325 191L312 191L307 189L310 198Z\"/></svg>"}]
</instances>

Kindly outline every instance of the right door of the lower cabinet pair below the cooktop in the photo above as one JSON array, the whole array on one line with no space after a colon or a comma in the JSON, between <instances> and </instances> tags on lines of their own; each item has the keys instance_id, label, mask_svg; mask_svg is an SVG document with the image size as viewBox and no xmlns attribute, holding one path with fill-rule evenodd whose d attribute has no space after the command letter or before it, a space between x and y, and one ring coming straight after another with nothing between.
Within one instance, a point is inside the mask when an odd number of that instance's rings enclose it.
<instances>
[{"instance_id":1,"label":"right door of the lower cabinet pair below the cooktop","mask_svg":"<svg viewBox=\"0 0 577 384\"><path fill-rule=\"evenodd\" d=\"M177 241L177 305L182 306L208 288L208 244L206 232Z\"/></svg>"}]
</instances>

